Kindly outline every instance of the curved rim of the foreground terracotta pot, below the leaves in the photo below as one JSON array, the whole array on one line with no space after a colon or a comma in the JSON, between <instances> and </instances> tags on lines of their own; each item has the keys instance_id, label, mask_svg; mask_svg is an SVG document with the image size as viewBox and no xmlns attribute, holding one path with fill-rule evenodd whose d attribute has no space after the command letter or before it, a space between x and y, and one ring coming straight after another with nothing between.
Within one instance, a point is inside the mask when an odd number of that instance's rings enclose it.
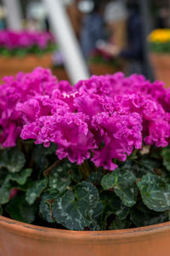
<instances>
[{"instance_id":1,"label":"curved rim of the foreground terracotta pot, below the leaves","mask_svg":"<svg viewBox=\"0 0 170 256\"><path fill-rule=\"evenodd\" d=\"M0 216L0 229L13 233L16 236L26 238L41 237L43 241L54 241L63 243L87 243L94 242L111 244L112 242L122 243L131 241L148 240L150 236L170 235L170 221L162 224L133 228L127 230L99 230L99 231L77 231L77 230L59 230L47 227L41 227L33 224L26 224L11 218Z\"/></svg>"}]
</instances>

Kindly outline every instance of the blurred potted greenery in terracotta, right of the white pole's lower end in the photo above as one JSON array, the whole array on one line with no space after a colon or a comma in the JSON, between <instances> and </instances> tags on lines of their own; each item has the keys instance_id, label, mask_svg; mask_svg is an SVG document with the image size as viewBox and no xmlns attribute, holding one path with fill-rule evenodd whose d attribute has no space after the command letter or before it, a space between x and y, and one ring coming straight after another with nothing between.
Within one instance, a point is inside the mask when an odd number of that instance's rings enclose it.
<instances>
[{"instance_id":1,"label":"blurred potted greenery in terracotta, right of the white pole's lower end","mask_svg":"<svg viewBox=\"0 0 170 256\"><path fill-rule=\"evenodd\" d=\"M122 60L105 55L101 50L95 49L88 59L88 67L93 75L105 75L122 71Z\"/></svg>"}]
</instances>

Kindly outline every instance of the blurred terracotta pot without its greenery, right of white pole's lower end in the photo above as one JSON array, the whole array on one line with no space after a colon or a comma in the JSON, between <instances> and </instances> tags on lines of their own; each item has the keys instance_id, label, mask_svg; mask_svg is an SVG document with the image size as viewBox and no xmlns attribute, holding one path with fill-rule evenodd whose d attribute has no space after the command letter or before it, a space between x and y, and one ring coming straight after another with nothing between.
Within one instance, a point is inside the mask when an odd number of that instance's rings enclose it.
<instances>
[{"instance_id":1,"label":"blurred terracotta pot without its greenery, right of white pole's lower end","mask_svg":"<svg viewBox=\"0 0 170 256\"><path fill-rule=\"evenodd\" d=\"M122 67L118 68L118 67L113 67L109 64L103 64L103 63L90 63L89 64L89 70L90 73L96 76L99 75L105 75L105 74L112 74L112 73L116 73L118 71L122 71Z\"/></svg>"}]
</instances>

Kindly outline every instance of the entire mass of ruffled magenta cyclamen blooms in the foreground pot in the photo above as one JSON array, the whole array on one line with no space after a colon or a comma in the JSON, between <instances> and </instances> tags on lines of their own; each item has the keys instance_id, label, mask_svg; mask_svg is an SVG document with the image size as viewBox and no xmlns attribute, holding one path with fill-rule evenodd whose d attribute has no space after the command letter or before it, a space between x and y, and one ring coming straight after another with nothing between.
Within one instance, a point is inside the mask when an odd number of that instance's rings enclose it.
<instances>
[{"instance_id":1,"label":"entire mass of ruffled magenta cyclamen blooms in the foreground pot","mask_svg":"<svg viewBox=\"0 0 170 256\"><path fill-rule=\"evenodd\" d=\"M142 143L166 147L170 142L170 90L141 75L93 76L71 86L37 68L6 78L0 91L3 147L17 137L48 147L56 143L60 160L116 169ZM5 139L6 138L6 139Z\"/></svg>"}]
</instances>

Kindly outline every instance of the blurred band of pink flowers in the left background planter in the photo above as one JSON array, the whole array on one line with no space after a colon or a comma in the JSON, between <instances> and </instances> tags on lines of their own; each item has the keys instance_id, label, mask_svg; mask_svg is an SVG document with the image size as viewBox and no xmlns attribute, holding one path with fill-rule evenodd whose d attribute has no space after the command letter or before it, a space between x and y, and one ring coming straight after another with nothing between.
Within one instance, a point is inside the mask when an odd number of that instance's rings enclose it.
<instances>
[{"instance_id":1,"label":"blurred band of pink flowers in the left background planter","mask_svg":"<svg viewBox=\"0 0 170 256\"><path fill-rule=\"evenodd\" d=\"M36 46L45 50L48 49L48 44L54 44L54 38L49 32L0 31L0 48L2 49L32 49Z\"/></svg>"}]
</instances>

